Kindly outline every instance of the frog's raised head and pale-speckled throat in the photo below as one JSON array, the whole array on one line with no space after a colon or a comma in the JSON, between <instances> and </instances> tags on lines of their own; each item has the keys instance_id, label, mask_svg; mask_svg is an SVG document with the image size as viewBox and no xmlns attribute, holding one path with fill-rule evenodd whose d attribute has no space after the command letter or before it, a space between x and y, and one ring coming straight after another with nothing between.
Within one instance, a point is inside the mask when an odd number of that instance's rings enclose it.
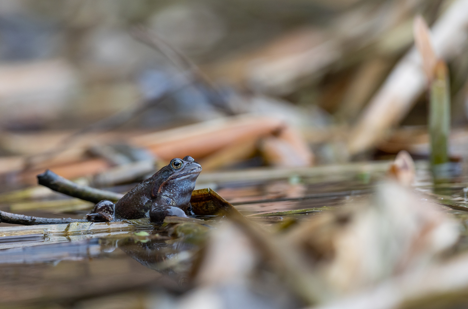
<instances>
[{"instance_id":1,"label":"frog's raised head and pale-speckled throat","mask_svg":"<svg viewBox=\"0 0 468 309\"><path fill-rule=\"evenodd\" d=\"M190 156L183 159L174 158L154 175L156 181L151 195L168 197L176 205L188 203L201 171L201 165Z\"/></svg>"}]
</instances>

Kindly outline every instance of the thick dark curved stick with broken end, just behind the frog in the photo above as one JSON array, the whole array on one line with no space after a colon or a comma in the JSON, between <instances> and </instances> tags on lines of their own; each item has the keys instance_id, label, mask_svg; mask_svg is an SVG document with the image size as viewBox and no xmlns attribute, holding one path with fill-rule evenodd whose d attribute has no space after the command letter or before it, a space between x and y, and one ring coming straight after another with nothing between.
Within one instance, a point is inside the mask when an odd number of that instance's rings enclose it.
<instances>
[{"instance_id":1,"label":"thick dark curved stick with broken end, just behind the frog","mask_svg":"<svg viewBox=\"0 0 468 309\"><path fill-rule=\"evenodd\" d=\"M46 170L37 175L39 185L51 188L54 191L79 198L81 200L97 203L102 200L118 201L123 194L100 190L88 186L80 186L56 173ZM62 219L57 219L62 220ZM70 219L71 220L71 219ZM21 224L21 223L20 223ZM42 224L42 223L41 223Z\"/></svg>"}]
</instances>

